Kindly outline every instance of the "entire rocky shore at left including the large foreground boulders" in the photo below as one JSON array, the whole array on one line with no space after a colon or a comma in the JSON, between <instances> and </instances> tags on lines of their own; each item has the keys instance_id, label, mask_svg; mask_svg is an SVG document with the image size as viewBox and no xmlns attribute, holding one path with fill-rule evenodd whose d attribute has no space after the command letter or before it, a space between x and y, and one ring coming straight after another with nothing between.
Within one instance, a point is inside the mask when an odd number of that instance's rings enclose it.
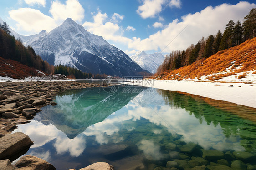
<instances>
[{"instance_id":1,"label":"entire rocky shore at left including the large foreground boulders","mask_svg":"<svg viewBox=\"0 0 256 170\"><path fill-rule=\"evenodd\" d=\"M99 84L76 81L0 82L0 169L1 170L56 170L50 163L34 156L23 156L33 142L29 136L16 132L18 124L29 123L46 105L57 105L53 98L58 92L99 87ZM113 170L107 163L95 163L83 170Z\"/></svg>"}]
</instances>

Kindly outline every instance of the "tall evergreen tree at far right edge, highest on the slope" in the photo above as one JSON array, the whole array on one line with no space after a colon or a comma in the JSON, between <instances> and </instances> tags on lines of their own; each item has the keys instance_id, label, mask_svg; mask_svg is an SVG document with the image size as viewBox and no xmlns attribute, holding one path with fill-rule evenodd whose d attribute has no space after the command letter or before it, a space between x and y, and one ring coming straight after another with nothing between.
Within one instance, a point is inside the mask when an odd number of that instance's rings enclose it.
<instances>
[{"instance_id":1,"label":"tall evergreen tree at far right edge, highest on the slope","mask_svg":"<svg viewBox=\"0 0 256 170\"><path fill-rule=\"evenodd\" d=\"M242 29L244 40L256 37L256 8L244 17Z\"/></svg>"}]
</instances>

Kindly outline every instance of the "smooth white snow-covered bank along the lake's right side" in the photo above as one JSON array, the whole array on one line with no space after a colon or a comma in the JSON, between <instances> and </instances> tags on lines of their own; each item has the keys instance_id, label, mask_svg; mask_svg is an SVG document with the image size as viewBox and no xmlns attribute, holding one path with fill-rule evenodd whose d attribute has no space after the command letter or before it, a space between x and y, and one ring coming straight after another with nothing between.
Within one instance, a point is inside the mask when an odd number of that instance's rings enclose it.
<instances>
[{"instance_id":1,"label":"smooth white snow-covered bank along the lake's right side","mask_svg":"<svg viewBox=\"0 0 256 170\"><path fill-rule=\"evenodd\" d=\"M256 108L256 84L195 82L177 80L135 80L124 84L154 87L163 90L181 91L215 100ZM233 87L230 87L233 85Z\"/></svg>"}]
</instances>

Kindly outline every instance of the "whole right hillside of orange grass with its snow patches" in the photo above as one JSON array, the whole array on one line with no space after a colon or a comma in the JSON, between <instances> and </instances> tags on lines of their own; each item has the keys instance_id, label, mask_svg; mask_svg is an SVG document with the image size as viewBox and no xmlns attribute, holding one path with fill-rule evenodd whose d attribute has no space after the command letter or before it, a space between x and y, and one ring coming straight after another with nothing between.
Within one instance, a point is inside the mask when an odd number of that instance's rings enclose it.
<instances>
[{"instance_id":1,"label":"whole right hillside of orange grass with its snow patches","mask_svg":"<svg viewBox=\"0 0 256 170\"><path fill-rule=\"evenodd\" d=\"M256 38L207 59L157 76L158 79L256 82Z\"/></svg>"}]
</instances>

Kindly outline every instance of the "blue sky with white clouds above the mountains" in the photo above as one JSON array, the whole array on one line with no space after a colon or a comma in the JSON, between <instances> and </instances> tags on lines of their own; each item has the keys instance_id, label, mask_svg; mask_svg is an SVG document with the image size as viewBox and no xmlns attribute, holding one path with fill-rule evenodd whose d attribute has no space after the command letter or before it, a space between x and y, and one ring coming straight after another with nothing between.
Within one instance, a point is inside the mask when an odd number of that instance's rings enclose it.
<instances>
[{"instance_id":1,"label":"blue sky with white clouds above the mountains","mask_svg":"<svg viewBox=\"0 0 256 170\"><path fill-rule=\"evenodd\" d=\"M255 0L0 0L0 18L20 35L72 18L131 56L186 50L255 7Z\"/></svg>"}]
</instances>

